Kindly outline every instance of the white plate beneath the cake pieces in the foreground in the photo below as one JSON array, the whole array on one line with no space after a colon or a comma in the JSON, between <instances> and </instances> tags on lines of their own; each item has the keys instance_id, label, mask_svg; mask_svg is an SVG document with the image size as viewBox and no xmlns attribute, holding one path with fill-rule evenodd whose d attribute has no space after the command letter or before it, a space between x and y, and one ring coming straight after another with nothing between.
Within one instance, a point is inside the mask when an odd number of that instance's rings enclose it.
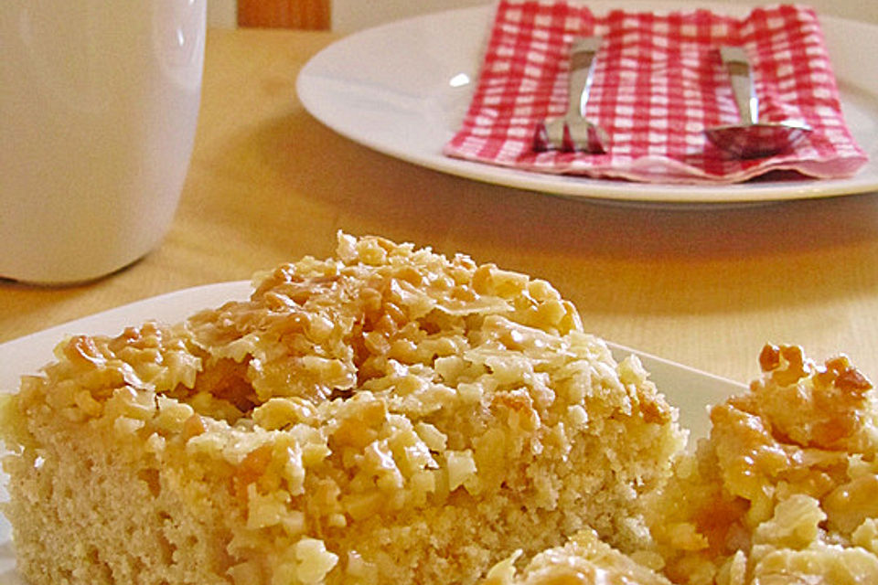
<instances>
[{"instance_id":1,"label":"white plate beneath the cake pieces in the foreground","mask_svg":"<svg viewBox=\"0 0 878 585\"><path fill-rule=\"evenodd\" d=\"M7 342L0 345L0 391L15 391L20 376L37 372L53 359L52 350L65 335L117 335L128 325L148 320L176 323L200 309L218 307L230 300L246 299L250 292L251 284L247 281L199 286L127 304ZM680 423L691 430L692 437L704 436L708 431L706 408L709 404L746 389L743 384L732 380L623 346L609 345L617 357L630 353L640 357L651 378L671 404L680 408ZM6 498L5 483L3 475L0 482L0 499L3 500ZM0 583L25 585L15 570L15 554L10 538L9 524L5 517L0 516Z\"/></svg>"}]
</instances>

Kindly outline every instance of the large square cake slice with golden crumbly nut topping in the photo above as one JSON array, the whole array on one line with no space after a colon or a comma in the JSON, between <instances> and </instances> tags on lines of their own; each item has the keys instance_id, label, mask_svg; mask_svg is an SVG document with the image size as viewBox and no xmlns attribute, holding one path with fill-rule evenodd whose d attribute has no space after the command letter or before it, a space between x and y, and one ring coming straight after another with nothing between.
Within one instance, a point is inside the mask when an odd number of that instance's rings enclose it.
<instances>
[{"instance_id":1,"label":"large square cake slice with golden crumbly nut topping","mask_svg":"<svg viewBox=\"0 0 878 585\"><path fill-rule=\"evenodd\" d=\"M35 585L473 583L584 529L636 550L684 441L547 282L374 237L56 355L2 405Z\"/></svg>"}]
</instances>

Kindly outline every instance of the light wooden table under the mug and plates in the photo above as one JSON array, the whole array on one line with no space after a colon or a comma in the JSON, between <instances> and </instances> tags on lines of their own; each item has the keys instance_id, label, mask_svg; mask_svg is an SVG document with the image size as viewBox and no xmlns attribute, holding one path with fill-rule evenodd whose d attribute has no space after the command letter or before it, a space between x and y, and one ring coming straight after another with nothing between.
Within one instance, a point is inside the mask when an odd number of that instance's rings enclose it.
<instances>
[{"instance_id":1,"label":"light wooden table under the mug and plates","mask_svg":"<svg viewBox=\"0 0 878 585\"><path fill-rule=\"evenodd\" d=\"M159 293L326 256L337 229L553 282L588 330L745 381L766 341L878 379L878 197L692 210L490 186L353 144L296 101L325 32L212 30L192 165L160 248L99 282L0 283L0 342Z\"/></svg>"}]
</instances>

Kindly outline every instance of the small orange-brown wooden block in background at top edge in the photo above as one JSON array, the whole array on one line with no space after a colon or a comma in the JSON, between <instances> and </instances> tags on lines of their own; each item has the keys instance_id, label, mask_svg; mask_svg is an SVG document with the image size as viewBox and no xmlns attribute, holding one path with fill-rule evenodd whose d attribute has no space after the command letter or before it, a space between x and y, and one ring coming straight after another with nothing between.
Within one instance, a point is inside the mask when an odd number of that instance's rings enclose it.
<instances>
[{"instance_id":1,"label":"small orange-brown wooden block in background at top edge","mask_svg":"<svg viewBox=\"0 0 878 585\"><path fill-rule=\"evenodd\" d=\"M328 30L329 0L238 0L239 27Z\"/></svg>"}]
</instances>

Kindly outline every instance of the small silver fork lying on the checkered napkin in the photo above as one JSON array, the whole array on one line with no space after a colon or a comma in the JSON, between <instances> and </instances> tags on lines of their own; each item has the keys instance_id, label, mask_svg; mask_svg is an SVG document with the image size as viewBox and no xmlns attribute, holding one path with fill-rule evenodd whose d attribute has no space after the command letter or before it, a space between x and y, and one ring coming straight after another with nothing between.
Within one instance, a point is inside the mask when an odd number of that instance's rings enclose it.
<instances>
[{"instance_id":1,"label":"small silver fork lying on the checkered napkin","mask_svg":"<svg viewBox=\"0 0 878 585\"><path fill-rule=\"evenodd\" d=\"M568 81L567 113L537 124L533 147L601 154L609 139L603 129L585 118L585 106L592 89L594 57L601 46L601 37L577 37L570 48L570 79Z\"/></svg>"}]
</instances>

